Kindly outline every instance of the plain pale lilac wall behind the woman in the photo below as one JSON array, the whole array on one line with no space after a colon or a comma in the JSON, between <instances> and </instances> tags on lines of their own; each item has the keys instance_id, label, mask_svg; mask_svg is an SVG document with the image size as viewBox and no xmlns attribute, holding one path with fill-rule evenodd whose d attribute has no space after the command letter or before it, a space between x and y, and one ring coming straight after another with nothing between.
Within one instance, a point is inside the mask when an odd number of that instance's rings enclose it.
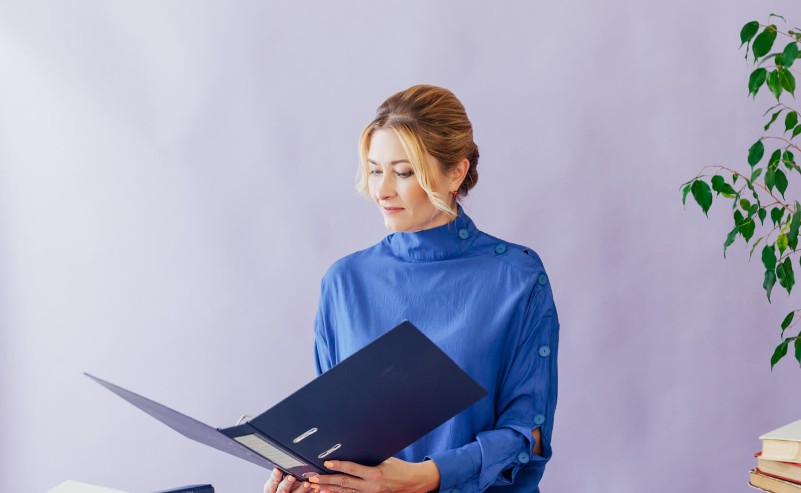
<instances>
[{"instance_id":1,"label":"plain pale lilac wall behind the woman","mask_svg":"<svg viewBox=\"0 0 801 493\"><path fill-rule=\"evenodd\" d=\"M730 200L707 219L678 187L747 170L773 102L747 98L743 24L801 24L742 3L6 3L0 489L261 491L81 373L216 427L312 379L321 276L388 234L360 130L430 83L481 149L468 214L552 280L542 491L750 491L757 437L801 419L797 363L769 368L799 303L767 303L742 238L723 259Z\"/></svg>"}]
</instances>

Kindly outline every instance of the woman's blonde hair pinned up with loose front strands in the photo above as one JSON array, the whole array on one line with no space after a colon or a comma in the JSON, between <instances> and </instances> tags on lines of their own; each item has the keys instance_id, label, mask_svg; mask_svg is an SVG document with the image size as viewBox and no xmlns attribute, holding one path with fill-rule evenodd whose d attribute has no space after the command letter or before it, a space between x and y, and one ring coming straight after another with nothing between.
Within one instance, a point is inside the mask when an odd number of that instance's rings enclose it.
<instances>
[{"instance_id":1,"label":"woman's blonde hair pinned up with loose front strands","mask_svg":"<svg viewBox=\"0 0 801 493\"><path fill-rule=\"evenodd\" d=\"M376 118L364 127L359 138L361 166L356 173L356 190L364 197L369 196L370 138L380 129L395 132L409 157L417 182L429 195L431 203L451 218L455 217L453 206L434 193L437 176L428 166L425 154L437 159L442 174L449 174L462 159L469 160L467 174L457 190L462 197L478 182L478 146L473 142L473 125L457 97L442 87L418 84L392 94L378 106Z\"/></svg>"}]
</instances>

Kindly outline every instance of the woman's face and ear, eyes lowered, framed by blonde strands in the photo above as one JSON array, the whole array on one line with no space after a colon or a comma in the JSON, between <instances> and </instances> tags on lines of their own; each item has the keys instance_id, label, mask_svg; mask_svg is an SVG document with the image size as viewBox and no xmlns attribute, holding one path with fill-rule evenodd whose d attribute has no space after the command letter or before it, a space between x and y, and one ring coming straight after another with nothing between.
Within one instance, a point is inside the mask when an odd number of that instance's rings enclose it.
<instances>
[{"instance_id":1,"label":"woman's face and ear, eyes lowered, framed by blonde strands","mask_svg":"<svg viewBox=\"0 0 801 493\"><path fill-rule=\"evenodd\" d=\"M457 189L461 180L454 184L453 180L445 179L437 159L431 154L425 154L425 159L440 183L434 191L445 203L450 203L453 200L453 190ZM370 197L384 216L384 226L388 230L427 230L451 220L431 203L429 195L417 182L409 158L392 130L373 131L368 150L368 166ZM449 189L449 186L453 188Z\"/></svg>"}]
</instances>

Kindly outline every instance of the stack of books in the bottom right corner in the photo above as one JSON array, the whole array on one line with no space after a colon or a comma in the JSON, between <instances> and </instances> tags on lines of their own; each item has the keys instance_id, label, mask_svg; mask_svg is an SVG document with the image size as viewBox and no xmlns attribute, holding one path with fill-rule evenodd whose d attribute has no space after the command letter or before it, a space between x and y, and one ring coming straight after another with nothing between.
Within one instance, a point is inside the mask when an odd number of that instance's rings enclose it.
<instances>
[{"instance_id":1,"label":"stack of books in the bottom right corner","mask_svg":"<svg viewBox=\"0 0 801 493\"><path fill-rule=\"evenodd\" d=\"M751 487L771 493L801 493L801 419L759 437Z\"/></svg>"}]
</instances>

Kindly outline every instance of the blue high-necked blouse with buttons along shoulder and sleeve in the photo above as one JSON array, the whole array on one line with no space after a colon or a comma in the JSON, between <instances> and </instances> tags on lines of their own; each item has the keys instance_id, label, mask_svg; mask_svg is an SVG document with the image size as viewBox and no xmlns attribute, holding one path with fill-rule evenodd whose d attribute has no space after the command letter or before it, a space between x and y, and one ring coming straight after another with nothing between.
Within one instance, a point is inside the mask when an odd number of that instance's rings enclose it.
<instances>
[{"instance_id":1,"label":"blue high-necked blouse with buttons along shoulder and sleeve","mask_svg":"<svg viewBox=\"0 0 801 493\"><path fill-rule=\"evenodd\" d=\"M438 493L539 491L551 457L559 321L539 256L453 221L395 232L320 283L317 375L409 319L489 395L395 456L430 459ZM542 455L532 431L541 429Z\"/></svg>"}]
</instances>

